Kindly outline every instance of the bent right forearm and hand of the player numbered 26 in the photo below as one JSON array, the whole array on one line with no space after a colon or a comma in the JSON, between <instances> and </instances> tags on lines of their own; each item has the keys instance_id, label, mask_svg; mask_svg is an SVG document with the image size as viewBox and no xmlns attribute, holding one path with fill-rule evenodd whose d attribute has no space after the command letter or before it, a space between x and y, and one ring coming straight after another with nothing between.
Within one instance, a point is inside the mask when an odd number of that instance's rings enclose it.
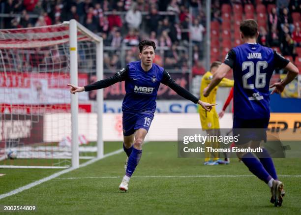
<instances>
[{"instance_id":1,"label":"bent right forearm and hand of the player numbered 26","mask_svg":"<svg viewBox=\"0 0 301 215\"><path fill-rule=\"evenodd\" d=\"M271 92L271 94L283 92L285 86L288 85L289 83L291 83L295 79L295 77L298 75L298 73L299 73L299 69L292 62L289 62L284 67L284 69L288 71L287 75L285 76L285 78L281 82L272 84L270 86L270 88L273 88L273 87L275 88Z\"/></svg>"}]
</instances>

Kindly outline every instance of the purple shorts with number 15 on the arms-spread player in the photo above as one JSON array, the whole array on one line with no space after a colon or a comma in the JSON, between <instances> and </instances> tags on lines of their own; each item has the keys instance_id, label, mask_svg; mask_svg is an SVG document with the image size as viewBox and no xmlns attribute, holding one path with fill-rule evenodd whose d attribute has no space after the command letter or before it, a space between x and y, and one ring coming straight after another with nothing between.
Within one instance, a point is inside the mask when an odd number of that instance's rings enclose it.
<instances>
[{"instance_id":1,"label":"purple shorts with number 15 on the arms-spread player","mask_svg":"<svg viewBox=\"0 0 301 215\"><path fill-rule=\"evenodd\" d=\"M147 112L122 113L122 130L124 136L133 134L137 129L144 128L149 131L153 114Z\"/></svg>"}]
</instances>

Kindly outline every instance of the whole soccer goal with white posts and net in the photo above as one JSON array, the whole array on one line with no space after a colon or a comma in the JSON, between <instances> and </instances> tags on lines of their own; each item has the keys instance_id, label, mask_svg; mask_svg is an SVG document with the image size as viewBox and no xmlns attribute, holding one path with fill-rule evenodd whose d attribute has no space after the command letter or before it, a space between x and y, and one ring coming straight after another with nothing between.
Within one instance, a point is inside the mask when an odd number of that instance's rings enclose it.
<instances>
[{"instance_id":1,"label":"whole soccer goal with white posts and net","mask_svg":"<svg viewBox=\"0 0 301 215\"><path fill-rule=\"evenodd\" d=\"M102 47L75 20L0 30L0 167L76 168L103 155L102 91L66 86L102 78Z\"/></svg>"}]
</instances>

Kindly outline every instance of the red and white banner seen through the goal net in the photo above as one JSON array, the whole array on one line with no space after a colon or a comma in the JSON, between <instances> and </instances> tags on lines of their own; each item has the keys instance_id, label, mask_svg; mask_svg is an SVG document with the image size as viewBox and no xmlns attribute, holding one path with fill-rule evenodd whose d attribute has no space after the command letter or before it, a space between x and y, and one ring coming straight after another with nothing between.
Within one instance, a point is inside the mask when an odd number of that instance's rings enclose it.
<instances>
[{"instance_id":1,"label":"red and white banner seen through the goal net","mask_svg":"<svg viewBox=\"0 0 301 215\"><path fill-rule=\"evenodd\" d=\"M0 72L0 104L66 104L71 101L68 73ZM78 75L78 85L88 84L88 74ZM78 94L89 100L88 92Z\"/></svg>"}]
</instances>

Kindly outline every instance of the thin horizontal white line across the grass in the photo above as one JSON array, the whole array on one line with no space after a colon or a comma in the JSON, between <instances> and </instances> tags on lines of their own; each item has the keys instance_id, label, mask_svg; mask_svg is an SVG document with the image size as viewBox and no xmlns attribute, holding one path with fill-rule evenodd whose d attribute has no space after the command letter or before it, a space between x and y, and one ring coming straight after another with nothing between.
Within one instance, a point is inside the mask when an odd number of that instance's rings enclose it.
<instances>
[{"instance_id":1,"label":"thin horizontal white line across the grass","mask_svg":"<svg viewBox=\"0 0 301 215\"><path fill-rule=\"evenodd\" d=\"M196 175L196 176L132 176L131 178L239 178L255 177L254 175ZM301 177L301 175L279 175L279 177ZM58 178L60 180L77 180L77 179L120 179L121 176L103 176L103 177L70 177Z\"/></svg>"}]
</instances>

